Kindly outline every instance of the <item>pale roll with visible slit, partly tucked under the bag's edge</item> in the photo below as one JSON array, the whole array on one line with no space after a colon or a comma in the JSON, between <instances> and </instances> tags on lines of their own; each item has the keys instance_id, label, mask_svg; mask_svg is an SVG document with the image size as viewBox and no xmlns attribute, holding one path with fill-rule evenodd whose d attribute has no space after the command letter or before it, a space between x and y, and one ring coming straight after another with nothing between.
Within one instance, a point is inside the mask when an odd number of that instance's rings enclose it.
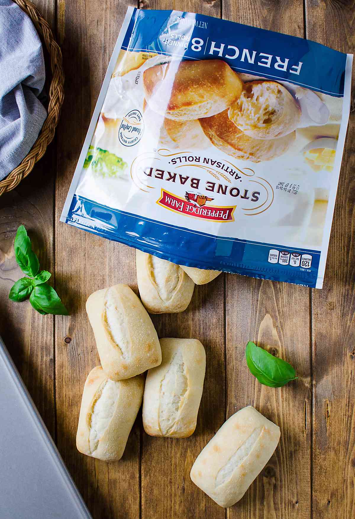
<instances>
[{"instance_id":1,"label":"pale roll with visible slit, partly tucked under the bag's edge","mask_svg":"<svg viewBox=\"0 0 355 519\"><path fill-rule=\"evenodd\" d=\"M150 313L186 310L195 283L179 265L136 250L139 295Z\"/></svg>"}]
</instances>

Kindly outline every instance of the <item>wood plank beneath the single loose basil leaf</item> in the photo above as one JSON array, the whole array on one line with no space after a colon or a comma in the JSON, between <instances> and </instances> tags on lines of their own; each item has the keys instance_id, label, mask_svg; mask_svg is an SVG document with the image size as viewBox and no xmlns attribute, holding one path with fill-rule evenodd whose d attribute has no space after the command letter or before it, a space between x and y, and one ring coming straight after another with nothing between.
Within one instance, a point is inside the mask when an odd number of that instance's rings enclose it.
<instances>
[{"instance_id":1,"label":"wood plank beneath the single loose basil leaf","mask_svg":"<svg viewBox=\"0 0 355 519\"><path fill-rule=\"evenodd\" d=\"M303 9L298 0L225 0L222 15L232 21L303 36ZM245 405L254 405L281 429L275 455L244 498L228 509L227 517L309 518L309 291L286 283L228 275L226 328L227 416ZM280 389L261 386L246 366L248 340L291 362L300 380Z\"/></svg>"}]
</instances>

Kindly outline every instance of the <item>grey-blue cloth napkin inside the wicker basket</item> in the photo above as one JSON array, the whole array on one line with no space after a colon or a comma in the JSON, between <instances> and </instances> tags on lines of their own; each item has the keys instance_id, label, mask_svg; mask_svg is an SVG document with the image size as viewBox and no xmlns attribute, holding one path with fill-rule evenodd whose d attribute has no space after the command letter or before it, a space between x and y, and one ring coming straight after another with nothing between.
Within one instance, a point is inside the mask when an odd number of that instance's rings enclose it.
<instances>
[{"instance_id":1,"label":"grey-blue cloth napkin inside the wicker basket","mask_svg":"<svg viewBox=\"0 0 355 519\"><path fill-rule=\"evenodd\" d=\"M45 77L31 19L11 0L0 0L0 180L27 155L45 122L38 99Z\"/></svg>"}]
</instances>

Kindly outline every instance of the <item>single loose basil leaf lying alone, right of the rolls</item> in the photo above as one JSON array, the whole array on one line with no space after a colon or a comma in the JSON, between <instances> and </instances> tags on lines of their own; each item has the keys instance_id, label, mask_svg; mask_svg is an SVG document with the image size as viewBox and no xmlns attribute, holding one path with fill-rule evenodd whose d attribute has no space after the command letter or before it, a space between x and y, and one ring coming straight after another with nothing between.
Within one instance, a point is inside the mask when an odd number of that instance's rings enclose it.
<instances>
[{"instance_id":1,"label":"single loose basil leaf lying alone, right of the rolls","mask_svg":"<svg viewBox=\"0 0 355 519\"><path fill-rule=\"evenodd\" d=\"M245 357L250 372L264 386L279 388L298 378L291 364L274 357L252 342L246 345Z\"/></svg>"}]
</instances>

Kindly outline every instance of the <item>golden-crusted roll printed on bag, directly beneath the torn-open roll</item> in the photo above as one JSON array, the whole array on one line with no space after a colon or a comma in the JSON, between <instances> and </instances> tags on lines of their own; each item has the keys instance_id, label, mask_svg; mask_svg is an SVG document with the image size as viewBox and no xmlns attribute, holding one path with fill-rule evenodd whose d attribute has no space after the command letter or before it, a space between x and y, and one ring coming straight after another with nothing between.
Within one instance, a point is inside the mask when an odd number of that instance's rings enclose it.
<instances>
[{"instance_id":1,"label":"golden-crusted roll printed on bag, directly beneath the torn-open roll","mask_svg":"<svg viewBox=\"0 0 355 519\"><path fill-rule=\"evenodd\" d=\"M200 119L205 135L222 152L236 159L261 162L283 155L295 139L295 132L279 139L253 139L239 130L228 117L228 110Z\"/></svg>"}]
</instances>

